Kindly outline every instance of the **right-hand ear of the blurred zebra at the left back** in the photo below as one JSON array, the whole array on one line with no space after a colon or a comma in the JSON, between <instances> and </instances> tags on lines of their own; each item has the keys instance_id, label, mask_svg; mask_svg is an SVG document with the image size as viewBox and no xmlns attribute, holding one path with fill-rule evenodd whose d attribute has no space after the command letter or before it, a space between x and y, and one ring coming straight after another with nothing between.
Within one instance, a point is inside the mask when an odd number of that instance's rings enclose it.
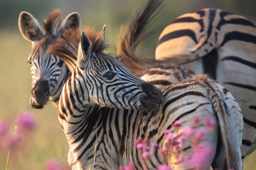
<instances>
[{"instance_id":1,"label":"right-hand ear of the blurred zebra at the left back","mask_svg":"<svg viewBox=\"0 0 256 170\"><path fill-rule=\"evenodd\" d=\"M67 30L68 28L79 28L81 24L81 17L79 13L74 12L70 13L63 22L63 28L64 30Z\"/></svg>"}]
</instances>

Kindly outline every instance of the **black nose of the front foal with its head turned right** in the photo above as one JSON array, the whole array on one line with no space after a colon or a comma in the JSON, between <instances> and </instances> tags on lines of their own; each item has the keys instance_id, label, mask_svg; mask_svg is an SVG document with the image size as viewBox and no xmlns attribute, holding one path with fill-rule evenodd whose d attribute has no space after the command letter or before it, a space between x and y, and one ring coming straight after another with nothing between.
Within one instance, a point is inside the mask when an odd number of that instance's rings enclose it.
<instances>
[{"instance_id":1,"label":"black nose of the front foal with its head turned right","mask_svg":"<svg viewBox=\"0 0 256 170\"><path fill-rule=\"evenodd\" d=\"M145 92L148 97L147 99L151 102L154 102L156 104L162 104L164 101L163 94L161 90L156 88L154 85L151 85L150 83L146 82L141 85L142 91Z\"/></svg>"}]
</instances>

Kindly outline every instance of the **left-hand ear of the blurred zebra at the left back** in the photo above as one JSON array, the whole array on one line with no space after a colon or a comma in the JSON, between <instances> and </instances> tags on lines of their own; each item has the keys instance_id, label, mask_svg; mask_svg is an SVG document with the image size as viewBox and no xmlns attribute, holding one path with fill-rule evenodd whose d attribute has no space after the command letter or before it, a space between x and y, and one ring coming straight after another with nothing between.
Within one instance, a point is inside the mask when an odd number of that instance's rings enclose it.
<instances>
[{"instance_id":1,"label":"left-hand ear of the blurred zebra at the left back","mask_svg":"<svg viewBox=\"0 0 256 170\"><path fill-rule=\"evenodd\" d=\"M36 18L28 12L20 13L18 25L21 35L28 41L36 41L44 36Z\"/></svg>"}]
</instances>

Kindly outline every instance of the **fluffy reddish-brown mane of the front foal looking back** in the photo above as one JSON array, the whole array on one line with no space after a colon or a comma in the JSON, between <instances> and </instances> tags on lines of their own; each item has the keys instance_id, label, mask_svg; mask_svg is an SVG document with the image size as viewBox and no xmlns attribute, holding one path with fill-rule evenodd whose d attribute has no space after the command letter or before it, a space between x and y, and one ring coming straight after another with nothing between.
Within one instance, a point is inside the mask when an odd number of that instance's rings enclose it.
<instances>
[{"instance_id":1,"label":"fluffy reddish-brown mane of the front foal looking back","mask_svg":"<svg viewBox=\"0 0 256 170\"><path fill-rule=\"evenodd\" d=\"M103 31L95 31L95 28L86 26L85 34L92 43L91 52L103 53L106 49ZM69 30L56 40L56 43L49 46L48 53L57 55L63 60L69 70L74 72L77 67L77 52L81 40L80 28L69 28Z\"/></svg>"}]
</instances>

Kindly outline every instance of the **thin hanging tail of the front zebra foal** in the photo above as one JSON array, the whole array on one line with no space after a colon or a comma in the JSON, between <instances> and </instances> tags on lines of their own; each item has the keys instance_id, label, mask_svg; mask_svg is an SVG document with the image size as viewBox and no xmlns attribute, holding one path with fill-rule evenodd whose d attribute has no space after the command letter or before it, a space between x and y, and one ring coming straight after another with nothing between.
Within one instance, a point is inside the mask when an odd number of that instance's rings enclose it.
<instances>
[{"instance_id":1,"label":"thin hanging tail of the front zebra foal","mask_svg":"<svg viewBox=\"0 0 256 170\"><path fill-rule=\"evenodd\" d=\"M238 165L238 161L240 158L238 158L236 151L233 147L233 144L230 140L231 136L230 136L230 128L228 128L229 127L228 124L232 122L228 122L227 113L225 110L224 102L222 100L224 94L222 90L219 90L220 89L219 84L215 82L214 84L213 82L208 82L208 83L211 84L210 86L216 87L216 88L211 87L212 92L209 93L208 97L212 100L214 110L217 113L221 138L225 148L226 166L228 169L238 170L240 169Z\"/></svg>"}]
</instances>

